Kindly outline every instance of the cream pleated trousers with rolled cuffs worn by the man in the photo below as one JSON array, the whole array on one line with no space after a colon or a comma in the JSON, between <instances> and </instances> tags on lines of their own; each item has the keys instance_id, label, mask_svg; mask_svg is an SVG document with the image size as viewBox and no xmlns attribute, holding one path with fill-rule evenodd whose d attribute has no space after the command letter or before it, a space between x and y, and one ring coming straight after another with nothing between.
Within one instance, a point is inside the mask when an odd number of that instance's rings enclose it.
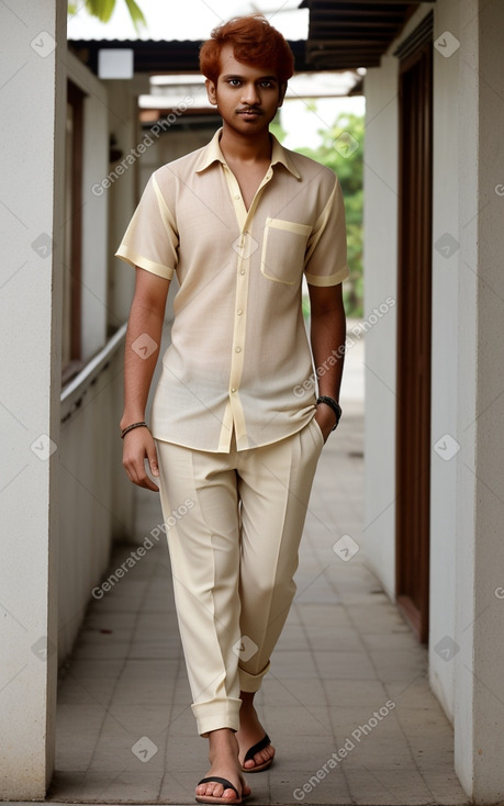
<instances>
[{"instance_id":1,"label":"cream pleated trousers with rolled cuffs worn by the man","mask_svg":"<svg viewBox=\"0 0 504 806\"><path fill-rule=\"evenodd\" d=\"M240 690L269 669L295 593L298 550L324 444L315 419L228 454L157 440L175 601L198 732L239 727ZM188 505L189 502L189 505ZM182 508L182 507L181 507ZM187 510L187 512L186 512Z\"/></svg>"}]
</instances>

